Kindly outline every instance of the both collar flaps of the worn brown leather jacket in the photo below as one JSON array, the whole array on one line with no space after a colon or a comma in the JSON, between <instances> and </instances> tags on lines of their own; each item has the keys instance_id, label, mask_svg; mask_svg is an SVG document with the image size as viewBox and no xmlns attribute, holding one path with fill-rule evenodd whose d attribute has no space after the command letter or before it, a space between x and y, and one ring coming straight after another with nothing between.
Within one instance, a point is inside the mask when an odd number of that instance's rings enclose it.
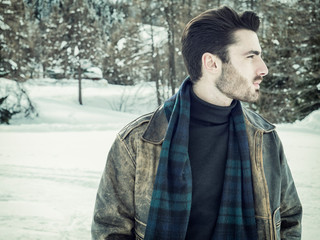
<instances>
[{"instance_id":1,"label":"both collar flaps of the worn brown leather jacket","mask_svg":"<svg viewBox=\"0 0 320 240\"><path fill-rule=\"evenodd\" d=\"M271 132L275 126L262 118L257 113L246 109L242 106L245 116L246 127L255 131ZM161 105L151 116L146 130L142 135L142 139L153 144L161 144L165 138L168 128L168 120L166 118L163 105Z\"/></svg>"}]
</instances>

